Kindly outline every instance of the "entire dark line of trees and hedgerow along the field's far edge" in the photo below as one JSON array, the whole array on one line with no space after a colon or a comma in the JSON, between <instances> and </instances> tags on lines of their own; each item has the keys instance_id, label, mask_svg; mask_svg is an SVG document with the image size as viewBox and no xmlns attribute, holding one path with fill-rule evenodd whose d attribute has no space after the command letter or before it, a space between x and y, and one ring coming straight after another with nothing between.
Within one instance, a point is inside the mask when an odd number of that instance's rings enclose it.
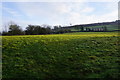
<instances>
[{"instance_id":1,"label":"entire dark line of trees and hedgerow along the field's far edge","mask_svg":"<svg viewBox=\"0 0 120 80\"><path fill-rule=\"evenodd\" d=\"M71 26L71 27L62 27L62 26L53 26L53 29L50 25L28 25L25 30L23 30L17 24L9 24L8 31L3 31L2 35L43 35L43 34L62 34L74 32L72 28L77 29L80 32L96 32L96 31L107 31L107 27L99 27L99 28L89 28L84 26Z\"/></svg>"}]
</instances>

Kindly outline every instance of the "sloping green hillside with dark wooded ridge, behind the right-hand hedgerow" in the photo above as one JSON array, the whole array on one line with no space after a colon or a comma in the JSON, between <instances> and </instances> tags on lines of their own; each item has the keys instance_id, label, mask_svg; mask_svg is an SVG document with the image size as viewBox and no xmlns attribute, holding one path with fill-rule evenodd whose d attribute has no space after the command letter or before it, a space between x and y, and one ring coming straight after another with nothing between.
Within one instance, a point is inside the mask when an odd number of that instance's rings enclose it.
<instances>
[{"instance_id":1,"label":"sloping green hillside with dark wooded ridge, behind the right-hand hedgerow","mask_svg":"<svg viewBox=\"0 0 120 80\"><path fill-rule=\"evenodd\" d=\"M96 29L96 28L106 27L107 31L116 31L116 30L120 30L120 28L118 28L118 22L119 22L119 20L116 20L113 22L102 22L102 23L91 23L91 24L65 26L62 28L63 29L70 29L71 31L81 31L81 27L83 27L84 30L86 28Z\"/></svg>"}]
</instances>

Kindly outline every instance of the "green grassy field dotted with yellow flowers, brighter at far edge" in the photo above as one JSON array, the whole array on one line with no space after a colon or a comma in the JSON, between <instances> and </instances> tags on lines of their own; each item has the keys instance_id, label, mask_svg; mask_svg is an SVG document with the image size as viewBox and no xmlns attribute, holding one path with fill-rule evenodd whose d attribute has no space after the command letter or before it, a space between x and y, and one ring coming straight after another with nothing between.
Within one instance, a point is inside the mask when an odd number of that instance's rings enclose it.
<instances>
[{"instance_id":1,"label":"green grassy field dotted with yellow flowers, brighter at far edge","mask_svg":"<svg viewBox=\"0 0 120 80\"><path fill-rule=\"evenodd\" d=\"M3 36L3 78L119 78L117 32Z\"/></svg>"}]
</instances>

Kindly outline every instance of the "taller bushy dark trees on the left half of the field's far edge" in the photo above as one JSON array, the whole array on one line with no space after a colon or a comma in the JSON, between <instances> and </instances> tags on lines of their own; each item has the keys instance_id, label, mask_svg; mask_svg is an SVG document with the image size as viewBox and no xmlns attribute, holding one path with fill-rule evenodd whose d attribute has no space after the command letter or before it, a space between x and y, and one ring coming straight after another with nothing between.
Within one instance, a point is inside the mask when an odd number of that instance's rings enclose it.
<instances>
[{"instance_id":1,"label":"taller bushy dark trees on the left half of the field's far edge","mask_svg":"<svg viewBox=\"0 0 120 80\"><path fill-rule=\"evenodd\" d=\"M25 30L17 24L10 24L8 31L3 31L2 35L42 35L42 34L61 34L70 32L68 29L61 29L61 26L54 26L54 29L49 25L28 25Z\"/></svg>"}]
</instances>

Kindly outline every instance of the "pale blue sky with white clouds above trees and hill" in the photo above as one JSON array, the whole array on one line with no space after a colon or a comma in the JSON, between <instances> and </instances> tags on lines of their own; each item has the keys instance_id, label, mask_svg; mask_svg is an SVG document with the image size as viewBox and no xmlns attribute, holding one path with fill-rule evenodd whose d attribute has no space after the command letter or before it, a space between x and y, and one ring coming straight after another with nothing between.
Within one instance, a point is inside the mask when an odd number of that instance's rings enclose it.
<instances>
[{"instance_id":1,"label":"pale blue sky with white clouds above trees and hill","mask_svg":"<svg viewBox=\"0 0 120 80\"><path fill-rule=\"evenodd\" d=\"M99 1L3 1L2 25L10 21L22 26L34 25L76 25L96 22L115 21L118 19L118 2Z\"/></svg>"}]
</instances>

